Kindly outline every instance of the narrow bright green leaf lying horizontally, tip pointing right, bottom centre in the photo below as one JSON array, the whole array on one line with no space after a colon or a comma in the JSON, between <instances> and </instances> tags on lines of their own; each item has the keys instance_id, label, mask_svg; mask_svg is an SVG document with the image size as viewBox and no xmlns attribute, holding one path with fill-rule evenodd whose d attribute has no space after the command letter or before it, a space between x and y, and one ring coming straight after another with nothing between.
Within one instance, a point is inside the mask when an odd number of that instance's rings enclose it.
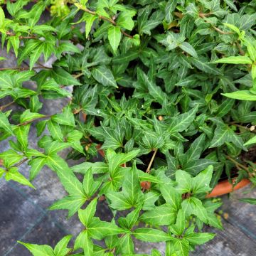
<instances>
[{"instance_id":1,"label":"narrow bright green leaf lying horizontally, tip pointing right, bottom centre","mask_svg":"<svg viewBox=\"0 0 256 256\"><path fill-rule=\"evenodd\" d=\"M137 228L134 230L133 235L135 238L145 242L165 242L175 240L171 235L154 228Z\"/></svg>"}]
</instances>

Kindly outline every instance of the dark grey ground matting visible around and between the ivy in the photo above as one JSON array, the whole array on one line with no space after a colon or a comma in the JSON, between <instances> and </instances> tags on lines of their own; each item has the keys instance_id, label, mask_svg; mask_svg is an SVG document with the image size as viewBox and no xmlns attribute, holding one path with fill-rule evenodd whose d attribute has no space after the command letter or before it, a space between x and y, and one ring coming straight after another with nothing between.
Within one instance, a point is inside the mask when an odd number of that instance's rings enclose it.
<instances>
[{"instance_id":1,"label":"dark grey ground matting visible around and between the ivy","mask_svg":"<svg viewBox=\"0 0 256 256\"><path fill-rule=\"evenodd\" d=\"M1 52L1 55L6 53ZM7 56L7 55L6 55ZM15 67L16 63L11 55L9 61L0 63L0 67ZM1 86L1 85L0 85ZM0 105L6 104L8 99L0 100ZM44 104L43 113L51 114L61 110L65 100L48 101ZM31 147L36 148L36 129L31 127ZM9 148L8 141L0 142L0 152ZM65 154L65 153L63 153ZM28 166L21 166L22 173L27 176ZM0 179L0 255L28 256L30 253L17 240L24 242L55 245L64 235L74 237L82 230L82 225L75 215L66 219L65 211L48 211L47 208L54 201L65 195L63 186L57 176L49 169L43 169L33 182L36 190L19 186L17 183L6 183ZM191 255L197 256L255 256L256 255L256 206L240 203L238 198L248 191L243 188L232 193L230 198L223 197L224 231L211 230L217 233L214 240L198 247ZM246 197L256 197L255 191L250 191ZM110 217L104 203L98 207L97 215L102 219ZM137 252L149 253L152 247L164 252L164 244L151 245L136 242Z\"/></svg>"}]
</instances>

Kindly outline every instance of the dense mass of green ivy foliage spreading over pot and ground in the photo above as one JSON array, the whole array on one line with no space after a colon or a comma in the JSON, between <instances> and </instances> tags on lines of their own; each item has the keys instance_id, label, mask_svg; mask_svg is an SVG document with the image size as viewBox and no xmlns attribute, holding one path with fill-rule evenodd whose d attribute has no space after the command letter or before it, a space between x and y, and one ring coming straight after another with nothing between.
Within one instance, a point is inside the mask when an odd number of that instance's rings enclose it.
<instances>
[{"instance_id":1,"label":"dense mass of green ivy foliage spreading over pot and ground","mask_svg":"<svg viewBox=\"0 0 256 256\"><path fill-rule=\"evenodd\" d=\"M220 201L206 198L220 177L231 182L235 169L236 182L256 183L255 164L240 159L255 142L245 144L256 124L255 1L63 3L0 7L1 45L18 63L0 71L0 98L12 99L0 107L0 139L10 144L0 176L34 188L48 166L67 191L50 210L85 226L73 246L71 236L54 248L21 244L36 256L136 255L137 239L186 256L214 237L203 224L222 228ZM53 56L51 67L42 63ZM70 99L61 112L41 114L44 99L58 98ZM28 143L33 123L38 149ZM63 149L82 164L69 166ZM90 161L98 152L104 159ZM29 178L19 170L25 162ZM99 198L111 222L95 216Z\"/></svg>"}]
</instances>

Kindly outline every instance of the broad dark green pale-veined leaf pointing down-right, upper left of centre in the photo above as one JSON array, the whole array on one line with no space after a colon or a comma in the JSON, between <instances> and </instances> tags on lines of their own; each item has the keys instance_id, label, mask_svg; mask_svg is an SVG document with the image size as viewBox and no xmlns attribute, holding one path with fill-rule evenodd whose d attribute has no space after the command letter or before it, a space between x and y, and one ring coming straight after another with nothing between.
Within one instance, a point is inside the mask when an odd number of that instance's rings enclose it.
<instances>
[{"instance_id":1,"label":"broad dark green pale-veined leaf pointing down-right, upper left of centre","mask_svg":"<svg viewBox=\"0 0 256 256\"><path fill-rule=\"evenodd\" d=\"M109 68L105 65L100 65L97 68L92 69L92 76L104 86L112 86L117 88L117 82L114 80L114 76Z\"/></svg>"}]
</instances>

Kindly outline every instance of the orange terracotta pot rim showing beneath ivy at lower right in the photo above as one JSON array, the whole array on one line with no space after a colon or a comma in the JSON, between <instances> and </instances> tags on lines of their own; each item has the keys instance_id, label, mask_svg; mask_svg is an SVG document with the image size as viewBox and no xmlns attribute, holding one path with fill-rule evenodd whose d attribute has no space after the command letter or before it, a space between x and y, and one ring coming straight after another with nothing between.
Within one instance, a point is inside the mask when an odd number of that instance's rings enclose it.
<instances>
[{"instance_id":1,"label":"orange terracotta pot rim showing beneath ivy at lower right","mask_svg":"<svg viewBox=\"0 0 256 256\"><path fill-rule=\"evenodd\" d=\"M233 178L233 183L235 183L235 179ZM232 186L232 184L230 184L227 181L220 181L215 188L213 188L213 191L211 191L211 193L209 193L206 198L213 198L215 196L222 196L225 195L227 193L236 191L240 188L243 188L245 186L247 186L250 183L250 181L247 178L242 179L242 181L238 182L237 185L235 185L234 187Z\"/></svg>"}]
</instances>

